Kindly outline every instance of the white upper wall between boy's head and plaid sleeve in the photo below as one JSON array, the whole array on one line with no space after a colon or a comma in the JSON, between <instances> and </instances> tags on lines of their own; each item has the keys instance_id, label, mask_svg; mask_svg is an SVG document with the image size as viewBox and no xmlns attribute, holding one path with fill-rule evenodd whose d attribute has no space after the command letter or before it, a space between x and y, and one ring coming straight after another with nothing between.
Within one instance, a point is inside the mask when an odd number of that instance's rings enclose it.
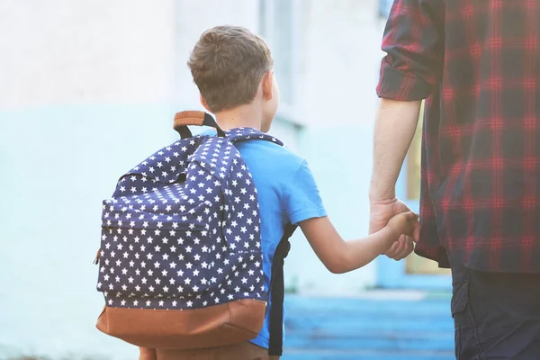
<instances>
[{"instance_id":1,"label":"white upper wall between boy's head and plaid sleeve","mask_svg":"<svg viewBox=\"0 0 540 360\"><path fill-rule=\"evenodd\" d=\"M377 1L303 3L304 116L311 125L372 125L382 53Z\"/></svg>"}]
</instances>

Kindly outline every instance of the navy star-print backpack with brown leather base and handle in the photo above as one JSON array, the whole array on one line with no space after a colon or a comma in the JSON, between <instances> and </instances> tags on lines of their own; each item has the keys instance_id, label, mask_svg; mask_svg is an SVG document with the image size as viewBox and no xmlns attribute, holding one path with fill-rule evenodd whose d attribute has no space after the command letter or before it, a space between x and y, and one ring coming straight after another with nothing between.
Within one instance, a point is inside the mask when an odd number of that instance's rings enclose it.
<instances>
[{"instance_id":1,"label":"navy star-print backpack with brown leather base and handle","mask_svg":"<svg viewBox=\"0 0 540 360\"><path fill-rule=\"evenodd\" d=\"M187 125L218 136L192 136ZM181 138L122 175L103 201L97 329L138 347L220 347L256 338L269 289L263 280L257 189L234 144L283 143L260 131L220 130L205 112L178 112ZM275 251L270 354L282 354L284 257Z\"/></svg>"}]
</instances>

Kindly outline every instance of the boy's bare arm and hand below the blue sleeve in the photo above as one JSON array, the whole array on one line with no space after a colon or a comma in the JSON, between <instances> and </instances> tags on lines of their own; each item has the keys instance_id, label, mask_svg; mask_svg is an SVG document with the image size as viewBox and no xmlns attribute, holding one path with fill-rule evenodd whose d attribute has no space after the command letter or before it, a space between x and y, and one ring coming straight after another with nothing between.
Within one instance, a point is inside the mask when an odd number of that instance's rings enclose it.
<instances>
[{"instance_id":1,"label":"boy's bare arm and hand below the blue sleeve","mask_svg":"<svg viewBox=\"0 0 540 360\"><path fill-rule=\"evenodd\" d=\"M341 238L328 216L304 220L299 225L320 261L330 272L342 274L372 262L401 234L410 234L417 219L412 212L401 213L374 234L350 241Z\"/></svg>"}]
</instances>

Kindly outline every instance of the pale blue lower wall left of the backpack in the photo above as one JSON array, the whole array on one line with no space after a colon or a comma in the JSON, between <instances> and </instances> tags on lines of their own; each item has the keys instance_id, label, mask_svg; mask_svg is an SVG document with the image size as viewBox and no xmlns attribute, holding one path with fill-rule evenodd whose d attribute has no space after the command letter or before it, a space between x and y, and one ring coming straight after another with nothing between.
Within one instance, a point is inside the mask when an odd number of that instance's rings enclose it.
<instances>
[{"instance_id":1,"label":"pale blue lower wall left of the backpack","mask_svg":"<svg viewBox=\"0 0 540 360\"><path fill-rule=\"evenodd\" d=\"M0 358L10 349L133 358L94 329L101 200L122 171L173 141L172 114L159 105L0 112Z\"/></svg>"}]
</instances>

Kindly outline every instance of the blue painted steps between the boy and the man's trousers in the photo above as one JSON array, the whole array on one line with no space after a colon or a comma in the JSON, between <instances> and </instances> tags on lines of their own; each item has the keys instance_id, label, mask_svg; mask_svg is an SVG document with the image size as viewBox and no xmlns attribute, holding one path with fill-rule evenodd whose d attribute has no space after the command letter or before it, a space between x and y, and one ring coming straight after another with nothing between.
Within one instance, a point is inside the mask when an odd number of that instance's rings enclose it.
<instances>
[{"instance_id":1,"label":"blue painted steps between the boy and the man's trousers","mask_svg":"<svg viewBox=\"0 0 540 360\"><path fill-rule=\"evenodd\" d=\"M449 296L419 301L287 296L285 360L453 359Z\"/></svg>"}]
</instances>

